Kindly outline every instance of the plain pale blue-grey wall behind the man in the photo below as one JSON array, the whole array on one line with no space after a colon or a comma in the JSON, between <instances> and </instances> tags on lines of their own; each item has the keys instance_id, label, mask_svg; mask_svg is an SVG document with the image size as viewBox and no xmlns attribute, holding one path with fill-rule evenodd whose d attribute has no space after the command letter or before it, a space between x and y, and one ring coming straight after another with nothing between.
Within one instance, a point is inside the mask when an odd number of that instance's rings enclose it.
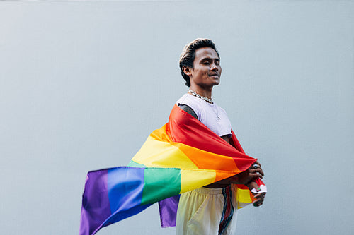
<instances>
[{"instance_id":1,"label":"plain pale blue-grey wall behind the man","mask_svg":"<svg viewBox=\"0 0 354 235\"><path fill-rule=\"evenodd\" d=\"M1 234L78 234L86 172L125 165L215 41L227 110L265 170L238 234L351 234L353 1L1 1ZM156 205L98 234L174 234Z\"/></svg>"}]
</instances>

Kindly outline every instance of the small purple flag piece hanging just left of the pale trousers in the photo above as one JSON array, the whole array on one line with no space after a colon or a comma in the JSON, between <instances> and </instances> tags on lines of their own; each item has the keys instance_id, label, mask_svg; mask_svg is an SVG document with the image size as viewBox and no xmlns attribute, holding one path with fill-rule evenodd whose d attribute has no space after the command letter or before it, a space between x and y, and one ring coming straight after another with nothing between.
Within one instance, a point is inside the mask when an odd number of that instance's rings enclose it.
<instances>
[{"instance_id":1,"label":"small purple flag piece hanging just left of the pale trousers","mask_svg":"<svg viewBox=\"0 0 354 235\"><path fill-rule=\"evenodd\" d=\"M175 195L171 198L159 201L161 227L175 227L177 217L177 207L179 196Z\"/></svg>"}]
</instances>

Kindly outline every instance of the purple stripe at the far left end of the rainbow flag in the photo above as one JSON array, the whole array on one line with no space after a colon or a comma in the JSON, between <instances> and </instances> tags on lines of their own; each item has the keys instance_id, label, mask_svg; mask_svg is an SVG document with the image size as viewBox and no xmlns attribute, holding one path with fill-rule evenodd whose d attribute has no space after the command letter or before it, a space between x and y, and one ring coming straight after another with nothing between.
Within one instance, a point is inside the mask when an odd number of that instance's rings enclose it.
<instances>
[{"instance_id":1,"label":"purple stripe at the far left end of the rainbow flag","mask_svg":"<svg viewBox=\"0 0 354 235\"><path fill-rule=\"evenodd\" d=\"M82 195L80 234L93 234L110 214L107 170L90 171Z\"/></svg>"}]
</instances>

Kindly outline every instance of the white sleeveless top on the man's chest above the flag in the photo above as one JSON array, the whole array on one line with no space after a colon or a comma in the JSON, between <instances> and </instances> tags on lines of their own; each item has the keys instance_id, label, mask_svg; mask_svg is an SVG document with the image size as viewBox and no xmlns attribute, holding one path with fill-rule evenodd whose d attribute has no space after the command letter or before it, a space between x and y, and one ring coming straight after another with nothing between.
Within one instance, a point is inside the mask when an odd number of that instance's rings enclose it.
<instances>
[{"instance_id":1,"label":"white sleeveless top on the man's chest above the flag","mask_svg":"<svg viewBox=\"0 0 354 235\"><path fill-rule=\"evenodd\" d=\"M197 114L198 120L217 135L229 135L229 138L232 136L231 122L225 110L217 104L210 104L188 93L177 100L176 104L188 105Z\"/></svg>"}]
</instances>

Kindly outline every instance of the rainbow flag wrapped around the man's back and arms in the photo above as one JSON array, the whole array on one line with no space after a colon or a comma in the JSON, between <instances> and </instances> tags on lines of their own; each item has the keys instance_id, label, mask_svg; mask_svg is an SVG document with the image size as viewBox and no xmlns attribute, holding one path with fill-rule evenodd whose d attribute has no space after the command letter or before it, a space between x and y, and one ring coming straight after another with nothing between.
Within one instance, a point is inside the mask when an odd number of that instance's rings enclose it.
<instances>
[{"instance_id":1,"label":"rainbow flag wrapped around the man's back and arms","mask_svg":"<svg viewBox=\"0 0 354 235\"><path fill-rule=\"evenodd\" d=\"M244 153L233 131L230 143L175 105L169 122L149 135L128 167L88 173L80 234L96 234L156 202L161 226L175 226L179 194L239 174L256 161ZM238 207L252 203L249 189L237 188Z\"/></svg>"}]
</instances>

